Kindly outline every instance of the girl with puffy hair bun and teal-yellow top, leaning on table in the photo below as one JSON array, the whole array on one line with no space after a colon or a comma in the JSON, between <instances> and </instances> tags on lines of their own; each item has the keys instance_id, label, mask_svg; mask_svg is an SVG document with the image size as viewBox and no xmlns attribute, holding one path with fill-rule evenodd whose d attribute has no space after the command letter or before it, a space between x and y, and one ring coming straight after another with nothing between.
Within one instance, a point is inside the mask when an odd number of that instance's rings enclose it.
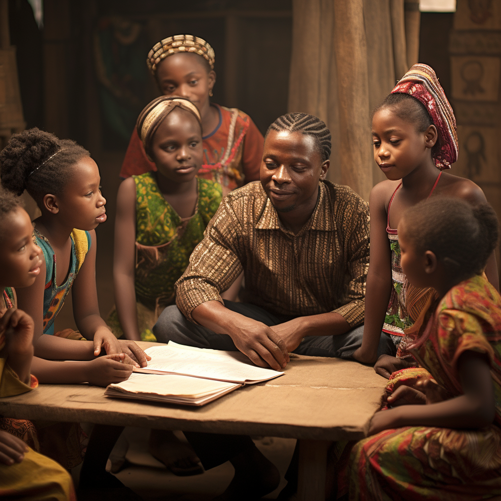
<instances>
[{"instance_id":1,"label":"girl with puffy hair bun and teal-yellow top, leaning on table","mask_svg":"<svg viewBox=\"0 0 501 501\"><path fill-rule=\"evenodd\" d=\"M74 141L34 128L11 137L0 164L2 185L17 195L26 188L42 211L35 221L35 237L45 260L34 284L18 292L20 307L35 321L35 355L40 358L33 361L33 373L42 383L106 386L126 380L131 364L146 366L149 357L134 342L117 341L99 315L94 228L106 220L106 200L96 163ZM73 333L74 339L64 339L60 335L68 330L52 335L53 322L70 289L81 336ZM90 341L77 340L82 336ZM102 348L108 355L125 356L97 358ZM119 427L94 427L81 487L117 486L105 465L120 432Z\"/></svg>"}]
</instances>

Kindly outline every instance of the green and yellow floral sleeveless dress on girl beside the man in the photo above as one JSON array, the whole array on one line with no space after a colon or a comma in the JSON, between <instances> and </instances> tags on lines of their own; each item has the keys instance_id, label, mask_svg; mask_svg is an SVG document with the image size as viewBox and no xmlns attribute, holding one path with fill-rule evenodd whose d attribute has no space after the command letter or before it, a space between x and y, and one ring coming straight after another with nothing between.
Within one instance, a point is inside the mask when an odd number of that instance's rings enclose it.
<instances>
[{"instance_id":1,"label":"green and yellow floral sleeveless dress on girl beside the man","mask_svg":"<svg viewBox=\"0 0 501 501\"><path fill-rule=\"evenodd\" d=\"M136 183L135 289L139 330L143 341L155 341L151 328L162 310L175 304L174 285L219 207L222 191L219 184L197 178L195 213L182 218L160 192L154 172L132 177ZM123 334L116 310L107 323L117 337Z\"/></svg>"}]
</instances>

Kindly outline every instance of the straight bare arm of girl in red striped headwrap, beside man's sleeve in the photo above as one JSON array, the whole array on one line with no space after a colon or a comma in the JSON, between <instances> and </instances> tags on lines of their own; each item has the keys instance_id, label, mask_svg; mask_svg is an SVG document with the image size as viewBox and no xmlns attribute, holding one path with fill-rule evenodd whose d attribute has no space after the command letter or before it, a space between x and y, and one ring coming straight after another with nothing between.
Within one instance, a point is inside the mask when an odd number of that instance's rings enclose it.
<instances>
[{"instance_id":1,"label":"straight bare arm of girl in red striped headwrap, beside man's sleeve","mask_svg":"<svg viewBox=\"0 0 501 501\"><path fill-rule=\"evenodd\" d=\"M362 346L353 354L353 358L362 363L376 362L381 329L391 294L391 249L386 233L388 212L385 207L388 184L384 181L377 184L369 196L370 265L365 287L364 335Z\"/></svg>"}]
</instances>

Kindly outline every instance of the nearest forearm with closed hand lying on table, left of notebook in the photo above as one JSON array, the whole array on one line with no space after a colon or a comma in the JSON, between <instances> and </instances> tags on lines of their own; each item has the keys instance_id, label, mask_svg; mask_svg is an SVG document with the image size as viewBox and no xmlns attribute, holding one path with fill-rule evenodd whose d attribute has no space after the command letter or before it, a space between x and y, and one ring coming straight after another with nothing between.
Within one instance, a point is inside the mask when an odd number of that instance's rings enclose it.
<instances>
[{"instance_id":1,"label":"nearest forearm with closed hand lying on table, left of notebook","mask_svg":"<svg viewBox=\"0 0 501 501\"><path fill-rule=\"evenodd\" d=\"M77 341L80 343L83 341ZM90 383L108 386L129 378L133 366L125 362L124 353L105 355L89 361L56 362L33 358L32 374L44 384Z\"/></svg>"}]
</instances>

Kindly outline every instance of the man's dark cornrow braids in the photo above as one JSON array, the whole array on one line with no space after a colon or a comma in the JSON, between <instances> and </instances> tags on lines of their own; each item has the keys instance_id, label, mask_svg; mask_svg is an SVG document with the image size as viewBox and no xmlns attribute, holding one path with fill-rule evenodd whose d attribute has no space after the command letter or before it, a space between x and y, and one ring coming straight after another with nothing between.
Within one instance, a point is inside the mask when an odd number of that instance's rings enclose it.
<instances>
[{"instance_id":1,"label":"man's dark cornrow braids","mask_svg":"<svg viewBox=\"0 0 501 501\"><path fill-rule=\"evenodd\" d=\"M331 131L323 120L315 115L308 113L287 113L277 118L275 122L268 127L265 138L271 130L277 132L301 132L315 138L317 151L322 157L322 162L329 160L331 156Z\"/></svg>"}]
</instances>

